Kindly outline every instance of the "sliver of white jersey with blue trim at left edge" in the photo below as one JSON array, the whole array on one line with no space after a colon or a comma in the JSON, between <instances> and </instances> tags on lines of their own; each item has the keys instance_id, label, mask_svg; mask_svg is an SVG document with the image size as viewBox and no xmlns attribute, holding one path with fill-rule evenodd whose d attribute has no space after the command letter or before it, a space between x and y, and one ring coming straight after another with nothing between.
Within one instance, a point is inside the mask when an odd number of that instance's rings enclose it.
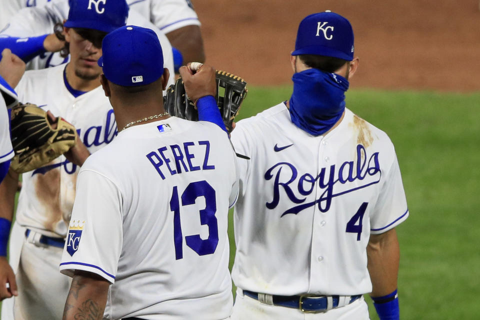
<instances>
[{"instance_id":1,"label":"sliver of white jersey with blue trim at left edge","mask_svg":"<svg viewBox=\"0 0 480 320\"><path fill-rule=\"evenodd\" d=\"M18 101L16 93L4 86L3 81L0 77L0 162L5 162L14 155L10 140L7 107L11 107Z\"/></svg>"}]
</instances>

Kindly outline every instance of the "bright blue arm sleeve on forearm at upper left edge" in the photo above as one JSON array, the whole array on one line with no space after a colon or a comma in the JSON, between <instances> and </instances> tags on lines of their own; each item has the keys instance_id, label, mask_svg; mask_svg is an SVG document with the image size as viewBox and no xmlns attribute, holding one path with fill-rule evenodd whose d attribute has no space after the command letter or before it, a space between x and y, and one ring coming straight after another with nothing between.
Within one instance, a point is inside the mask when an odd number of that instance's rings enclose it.
<instances>
[{"instance_id":1,"label":"bright blue arm sleeve on forearm at upper left edge","mask_svg":"<svg viewBox=\"0 0 480 320\"><path fill-rule=\"evenodd\" d=\"M31 37L0 37L0 51L9 48L24 62L28 62L40 53L46 52L43 41L48 34Z\"/></svg>"}]
</instances>

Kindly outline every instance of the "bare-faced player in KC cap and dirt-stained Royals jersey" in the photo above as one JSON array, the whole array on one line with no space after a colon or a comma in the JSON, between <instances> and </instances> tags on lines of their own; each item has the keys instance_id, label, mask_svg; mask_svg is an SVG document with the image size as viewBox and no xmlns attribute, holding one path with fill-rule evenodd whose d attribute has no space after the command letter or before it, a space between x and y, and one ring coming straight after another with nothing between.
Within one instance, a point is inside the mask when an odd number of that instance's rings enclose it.
<instances>
[{"instance_id":1,"label":"bare-faced player in KC cap and dirt-stained Royals jersey","mask_svg":"<svg viewBox=\"0 0 480 320\"><path fill-rule=\"evenodd\" d=\"M108 2L101 7L103 13L98 13L88 9L88 0L70 3L65 36L71 60L66 65L25 72L16 91L20 101L35 102L72 123L83 152L81 157L60 156L22 174L9 250L18 296L2 303L2 320L12 318L12 303L15 319L61 317L70 280L58 272L58 264L75 197L78 164L117 134L113 110L100 86L98 46L107 32L124 25L128 7L124 1ZM0 211L10 214L10 220L16 183L9 174L0 184ZM8 265L1 265L1 273L8 270ZM4 277L0 278L4 287ZM7 301L11 301L9 305Z\"/></svg>"}]
</instances>

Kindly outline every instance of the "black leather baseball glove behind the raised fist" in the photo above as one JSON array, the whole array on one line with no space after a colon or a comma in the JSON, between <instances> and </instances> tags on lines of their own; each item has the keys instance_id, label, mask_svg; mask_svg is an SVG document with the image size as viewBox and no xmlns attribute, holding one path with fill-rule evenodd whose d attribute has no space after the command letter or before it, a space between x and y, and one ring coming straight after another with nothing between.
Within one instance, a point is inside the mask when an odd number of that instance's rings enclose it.
<instances>
[{"instance_id":1,"label":"black leather baseball glove behind the raised fist","mask_svg":"<svg viewBox=\"0 0 480 320\"><path fill-rule=\"evenodd\" d=\"M223 123L230 132L240 104L248 92L246 82L234 74L220 70L215 72L215 81L217 86L215 100L220 109ZM176 80L175 84L168 87L163 99L165 110L170 115L198 121L198 111L187 97L181 77Z\"/></svg>"}]
</instances>

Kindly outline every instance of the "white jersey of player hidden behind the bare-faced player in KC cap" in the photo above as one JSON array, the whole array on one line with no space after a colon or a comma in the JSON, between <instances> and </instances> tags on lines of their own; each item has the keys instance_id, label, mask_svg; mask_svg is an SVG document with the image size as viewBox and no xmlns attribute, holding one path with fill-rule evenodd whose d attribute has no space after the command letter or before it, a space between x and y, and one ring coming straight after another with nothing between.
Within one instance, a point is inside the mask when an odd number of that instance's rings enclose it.
<instances>
[{"instance_id":1,"label":"white jersey of player hidden behind the bare-faced player in KC cap","mask_svg":"<svg viewBox=\"0 0 480 320\"><path fill-rule=\"evenodd\" d=\"M56 22L63 22L68 17L68 0L51 0L43 6L26 7L14 14L9 23L0 32L0 36L29 37L53 32ZM138 25L152 29L158 36L163 51L163 65L170 71L168 85L174 83L173 54L171 44L164 32L135 10L128 12L126 24ZM27 63L27 69L41 69L67 62L58 52L45 52Z\"/></svg>"}]
</instances>

